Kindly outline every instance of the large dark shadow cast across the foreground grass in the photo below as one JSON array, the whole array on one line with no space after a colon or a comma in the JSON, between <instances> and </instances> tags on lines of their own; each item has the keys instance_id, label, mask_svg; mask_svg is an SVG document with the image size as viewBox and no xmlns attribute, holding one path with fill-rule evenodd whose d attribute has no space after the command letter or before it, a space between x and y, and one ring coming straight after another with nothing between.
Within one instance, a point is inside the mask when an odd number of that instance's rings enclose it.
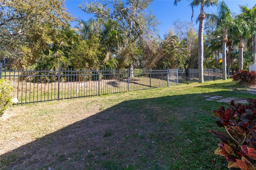
<instances>
[{"instance_id":1,"label":"large dark shadow cast across the foreground grass","mask_svg":"<svg viewBox=\"0 0 256 170\"><path fill-rule=\"evenodd\" d=\"M208 132L215 127L210 110L221 104L198 95L211 93L124 101L1 155L2 167L224 169L212 163L221 156L214 155L218 141Z\"/></svg>"}]
</instances>

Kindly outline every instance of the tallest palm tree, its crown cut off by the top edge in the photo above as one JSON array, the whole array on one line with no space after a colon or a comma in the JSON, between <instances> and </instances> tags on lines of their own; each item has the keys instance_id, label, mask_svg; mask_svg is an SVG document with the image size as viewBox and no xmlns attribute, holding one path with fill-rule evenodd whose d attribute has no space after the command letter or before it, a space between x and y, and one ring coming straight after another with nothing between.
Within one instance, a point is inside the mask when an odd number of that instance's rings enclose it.
<instances>
[{"instance_id":1,"label":"tallest palm tree, its crown cut off by the top edge","mask_svg":"<svg viewBox=\"0 0 256 170\"><path fill-rule=\"evenodd\" d=\"M174 5L181 0L175 0ZM200 6L199 30L198 30L198 70L199 70L199 83L204 83L204 7L210 7L218 4L218 0L187 0L190 2L192 8L192 17L194 16L194 7Z\"/></svg>"}]
</instances>

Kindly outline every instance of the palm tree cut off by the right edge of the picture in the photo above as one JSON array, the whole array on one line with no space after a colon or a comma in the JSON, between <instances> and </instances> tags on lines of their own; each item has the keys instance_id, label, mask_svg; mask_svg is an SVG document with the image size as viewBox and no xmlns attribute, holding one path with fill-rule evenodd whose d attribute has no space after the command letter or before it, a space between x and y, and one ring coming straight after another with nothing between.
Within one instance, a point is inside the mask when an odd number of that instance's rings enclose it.
<instances>
[{"instance_id":1,"label":"palm tree cut off by the right edge of the picture","mask_svg":"<svg viewBox=\"0 0 256 170\"><path fill-rule=\"evenodd\" d=\"M252 9L247 6L240 6L242 14L239 14L240 18L243 18L250 25L251 30L251 39L252 39L252 53L254 54L253 63L256 63L256 45L255 45L255 37L256 37L256 5L252 7Z\"/></svg>"}]
</instances>

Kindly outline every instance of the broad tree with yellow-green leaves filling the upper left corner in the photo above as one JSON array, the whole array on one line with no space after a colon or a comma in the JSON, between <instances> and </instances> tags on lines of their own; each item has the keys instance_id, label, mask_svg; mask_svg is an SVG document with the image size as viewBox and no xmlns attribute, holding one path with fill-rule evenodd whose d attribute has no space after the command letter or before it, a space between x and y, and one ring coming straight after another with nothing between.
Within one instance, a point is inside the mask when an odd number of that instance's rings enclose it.
<instances>
[{"instance_id":1,"label":"broad tree with yellow-green leaves filling the upper left corner","mask_svg":"<svg viewBox=\"0 0 256 170\"><path fill-rule=\"evenodd\" d=\"M40 51L39 43L42 46L43 41L51 41L50 30L66 26L71 20L64 0L0 0L0 50L18 57L24 57L25 51L36 53L33 50Z\"/></svg>"}]
</instances>

